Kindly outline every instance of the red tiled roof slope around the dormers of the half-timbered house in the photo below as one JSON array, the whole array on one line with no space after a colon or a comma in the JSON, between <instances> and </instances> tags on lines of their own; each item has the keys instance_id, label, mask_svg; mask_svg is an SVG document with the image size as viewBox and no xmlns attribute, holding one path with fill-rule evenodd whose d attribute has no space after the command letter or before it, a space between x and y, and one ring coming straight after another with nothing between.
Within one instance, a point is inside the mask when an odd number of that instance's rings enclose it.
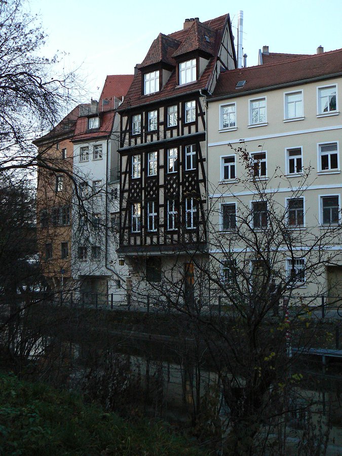
<instances>
[{"instance_id":1,"label":"red tiled roof slope around the dormers of the half-timbered house","mask_svg":"<svg viewBox=\"0 0 342 456\"><path fill-rule=\"evenodd\" d=\"M218 46L221 40L222 36L222 31L223 27L225 25L225 22L229 20L229 15L224 15L220 16L215 19L211 19L210 21L203 22L204 26L210 27L212 29L211 35L210 35L210 41L214 38L214 45L213 45L213 54L216 56ZM200 27L195 26L194 30L200 31L201 33L205 29L208 31L207 27L202 27L203 24L198 24ZM194 24L192 25L191 28L194 27ZM186 36L188 34L189 29L185 30L179 30L177 32L171 33L168 35L168 37L173 38L174 40L178 40L178 42L183 43L183 41L186 39ZM207 34L207 33L206 33ZM204 39L204 36L203 36ZM205 40L205 39L204 39ZM209 44L209 43L208 43ZM212 43L210 43L212 44ZM182 46L182 44L180 44ZM193 43L192 43L193 46ZM185 45L184 45L185 47ZM151 49L151 48L150 48ZM188 51L186 51L188 52ZM185 94L185 93L192 93L196 90L199 89L205 89L207 88L212 71L215 67L216 63L216 57L212 57L208 65L206 66L205 70L203 71L201 78L194 82L193 84L185 84L183 86L178 86L176 87L176 71L175 69L172 71L170 78L166 82L165 86L163 89L159 92L150 94L150 95L142 95L141 94L141 87L142 87L142 73L141 71L138 71L138 74L134 77L133 83L127 93L127 96L124 99L124 102L120 105L119 111L133 107L133 106L138 106L140 104L145 104L145 103L150 103L153 101L157 101L160 99L164 98L170 98L174 97L177 95Z\"/></svg>"}]
</instances>

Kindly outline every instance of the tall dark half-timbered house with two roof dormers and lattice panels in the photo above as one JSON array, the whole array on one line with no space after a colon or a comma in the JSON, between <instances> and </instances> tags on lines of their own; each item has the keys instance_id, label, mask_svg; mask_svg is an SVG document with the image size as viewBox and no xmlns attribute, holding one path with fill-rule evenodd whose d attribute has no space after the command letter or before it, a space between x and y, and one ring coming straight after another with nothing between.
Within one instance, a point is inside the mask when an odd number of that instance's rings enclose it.
<instances>
[{"instance_id":1,"label":"tall dark half-timbered house with two roof dormers and lattice panels","mask_svg":"<svg viewBox=\"0 0 342 456\"><path fill-rule=\"evenodd\" d=\"M133 279L160 281L206 250L206 96L236 55L229 15L160 33L119 107L120 246ZM177 253L173 258L171 254Z\"/></svg>"}]
</instances>

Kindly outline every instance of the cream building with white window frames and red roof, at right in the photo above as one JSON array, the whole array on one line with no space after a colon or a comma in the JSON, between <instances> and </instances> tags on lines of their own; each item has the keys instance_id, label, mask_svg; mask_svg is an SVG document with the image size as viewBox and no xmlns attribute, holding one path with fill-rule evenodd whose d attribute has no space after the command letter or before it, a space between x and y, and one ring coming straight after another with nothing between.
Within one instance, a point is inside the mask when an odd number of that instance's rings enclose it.
<instances>
[{"instance_id":1,"label":"cream building with white window frames and red roof, at right","mask_svg":"<svg viewBox=\"0 0 342 456\"><path fill-rule=\"evenodd\" d=\"M229 282L233 257L253 268L257 239L274 250L276 282L292 276L298 294L332 302L342 295L342 50L322 50L221 73L208 100L209 249Z\"/></svg>"}]
</instances>

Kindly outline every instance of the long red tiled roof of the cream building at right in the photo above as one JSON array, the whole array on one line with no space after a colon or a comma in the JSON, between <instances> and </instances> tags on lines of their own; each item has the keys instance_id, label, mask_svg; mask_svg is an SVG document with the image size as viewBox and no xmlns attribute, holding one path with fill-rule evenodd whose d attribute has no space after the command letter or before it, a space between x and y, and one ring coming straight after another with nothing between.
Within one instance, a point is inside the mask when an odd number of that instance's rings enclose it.
<instances>
[{"instance_id":1,"label":"long red tiled roof of the cream building at right","mask_svg":"<svg viewBox=\"0 0 342 456\"><path fill-rule=\"evenodd\" d=\"M225 71L219 75L213 96L239 94L341 72L342 49L337 49L278 63ZM237 83L243 80L246 84L236 89Z\"/></svg>"}]
</instances>

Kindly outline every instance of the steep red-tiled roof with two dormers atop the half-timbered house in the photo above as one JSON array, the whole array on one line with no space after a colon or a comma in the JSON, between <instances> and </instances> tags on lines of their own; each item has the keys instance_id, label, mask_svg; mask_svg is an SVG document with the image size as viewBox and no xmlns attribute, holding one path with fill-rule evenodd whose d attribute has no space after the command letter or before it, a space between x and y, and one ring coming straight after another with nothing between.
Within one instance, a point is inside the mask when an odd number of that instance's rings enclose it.
<instances>
[{"instance_id":1,"label":"steep red-tiled roof with two dormers atop the half-timbered house","mask_svg":"<svg viewBox=\"0 0 342 456\"><path fill-rule=\"evenodd\" d=\"M122 111L124 109L134 107L134 106L139 106L142 104L148 104L153 101L157 100L162 100L165 98L171 98L177 95L182 95L185 93L193 93L197 90L200 89L206 89L209 84L210 80L212 77L212 72L216 64L216 55L218 52L218 47L222 38L222 33L223 33L223 28L226 24L226 22L230 21L229 15L223 15L215 19L211 19L209 21L199 23L198 21L194 21L194 24L190 27L193 29L197 34L203 34L205 31L205 34L209 37L210 43L208 45L212 46L212 55L213 57L209 60L205 70L201 74L201 77L194 83L191 84L184 84L182 86L176 86L176 64L174 61L174 69L171 72L171 75L168 79L168 81L165 83L164 87L162 90L159 92L149 94L149 95L142 95L141 94L141 87L142 87L142 72L138 71L138 74L135 75L133 83L127 93L126 98L124 99L124 102L120 105L119 111ZM196 25L196 22L197 25ZM193 28L194 27L194 28ZM210 35L209 35L209 30L210 30ZM157 39L157 44L158 43L166 43L166 40L164 39L164 36L166 38L172 39L171 41L168 41L168 43L175 44L176 42L179 43L178 47L183 46L184 51L190 52L191 50L195 49L195 47L200 45L204 47L205 45L202 43L202 37L200 38L199 36L196 37L196 40L192 38L192 42L187 45L186 43L186 36L189 33L189 29L183 29L179 30L177 32L171 33L169 35L163 35L160 34L158 39ZM191 36L194 37L193 32L191 33ZM205 37L203 35L203 40L205 40ZM205 40L206 41L206 40ZM156 40L155 40L156 42ZM139 65L141 66L146 66L146 64L151 64L155 63L153 61L153 58L151 57L152 52L151 50L155 50L156 56L159 58L160 51L157 52L158 46L156 46L156 43L150 47L150 50L147 53L147 56L145 57L143 64ZM172 46L170 46L171 48ZM204 50L204 49L203 49ZM208 48L206 48L208 52ZM149 56L150 54L150 56ZM169 55L169 54L168 54Z\"/></svg>"}]
</instances>

